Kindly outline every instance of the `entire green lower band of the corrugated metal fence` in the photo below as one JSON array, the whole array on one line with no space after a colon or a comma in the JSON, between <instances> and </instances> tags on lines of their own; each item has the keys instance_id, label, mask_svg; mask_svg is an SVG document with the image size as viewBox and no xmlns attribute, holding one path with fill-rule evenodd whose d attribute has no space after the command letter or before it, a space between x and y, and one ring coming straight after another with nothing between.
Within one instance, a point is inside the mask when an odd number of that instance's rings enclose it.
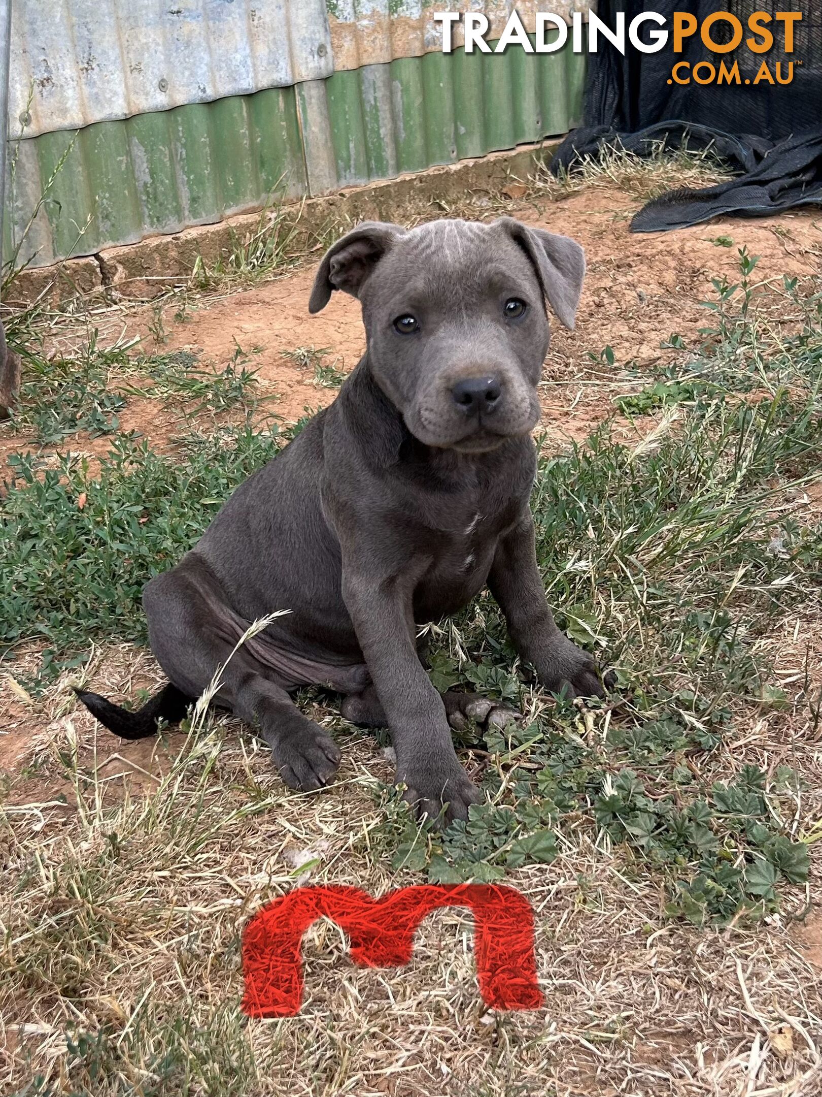
<instances>
[{"instance_id":1,"label":"entire green lower band of the corrugated metal fence","mask_svg":"<svg viewBox=\"0 0 822 1097\"><path fill-rule=\"evenodd\" d=\"M8 260L43 265L567 132L585 55L430 53L12 144ZM58 170L59 169L59 170Z\"/></svg>"}]
</instances>

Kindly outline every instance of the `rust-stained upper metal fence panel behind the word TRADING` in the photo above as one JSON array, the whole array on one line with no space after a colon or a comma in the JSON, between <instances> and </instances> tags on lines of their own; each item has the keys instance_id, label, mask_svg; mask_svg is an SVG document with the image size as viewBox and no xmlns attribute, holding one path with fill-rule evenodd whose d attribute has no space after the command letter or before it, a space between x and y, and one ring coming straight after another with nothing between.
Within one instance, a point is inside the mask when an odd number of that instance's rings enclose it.
<instances>
[{"instance_id":1,"label":"rust-stained upper metal fence panel behind the word TRADING","mask_svg":"<svg viewBox=\"0 0 822 1097\"><path fill-rule=\"evenodd\" d=\"M525 30L533 33L538 11L550 11L570 23L574 11L587 18L589 0L326 0L334 71L384 65L400 57L420 57L442 49L437 11L482 12L489 20L490 39L499 38L516 9ZM453 44L464 44L463 24L454 24Z\"/></svg>"}]
</instances>

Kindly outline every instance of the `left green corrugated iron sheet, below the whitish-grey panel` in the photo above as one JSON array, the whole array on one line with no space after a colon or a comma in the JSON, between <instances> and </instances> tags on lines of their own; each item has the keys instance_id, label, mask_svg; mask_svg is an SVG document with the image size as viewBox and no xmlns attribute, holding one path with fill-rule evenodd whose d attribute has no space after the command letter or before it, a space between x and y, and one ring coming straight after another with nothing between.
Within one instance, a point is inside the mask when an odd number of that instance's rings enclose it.
<instances>
[{"instance_id":1,"label":"left green corrugated iron sheet, below the whitish-grey panel","mask_svg":"<svg viewBox=\"0 0 822 1097\"><path fill-rule=\"evenodd\" d=\"M12 143L9 257L44 195L20 260L93 255L306 193L295 88L98 122Z\"/></svg>"}]
</instances>

